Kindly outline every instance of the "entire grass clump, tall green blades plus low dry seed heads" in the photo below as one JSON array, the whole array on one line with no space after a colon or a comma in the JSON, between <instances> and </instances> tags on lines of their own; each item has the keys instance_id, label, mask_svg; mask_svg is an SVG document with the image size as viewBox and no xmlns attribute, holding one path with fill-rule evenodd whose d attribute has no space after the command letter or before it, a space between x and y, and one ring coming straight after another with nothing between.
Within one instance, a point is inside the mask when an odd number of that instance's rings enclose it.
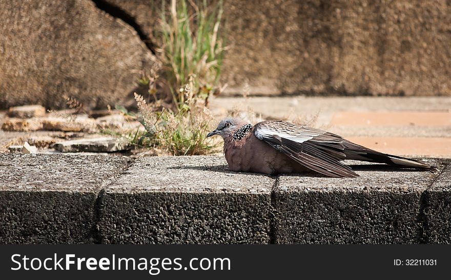
<instances>
[{"instance_id":1,"label":"entire grass clump, tall green blades plus low dry seed heads","mask_svg":"<svg viewBox=\"0 0 451 280\"><path fill-rule=\"evenodd\" d=\"M142 126L135 131L104 131L130 143L159 149L175 156L205 155L217 148L206 139L212 114L208 97L218 94L224 52L221 31L222 0L161 1L159 28L154 37L161 69L151 69L137 79L149 89L149 99L135 93L138 113L116 109ZM169 102L169 103L168 103Z\"/></svg>"}]
</instances>

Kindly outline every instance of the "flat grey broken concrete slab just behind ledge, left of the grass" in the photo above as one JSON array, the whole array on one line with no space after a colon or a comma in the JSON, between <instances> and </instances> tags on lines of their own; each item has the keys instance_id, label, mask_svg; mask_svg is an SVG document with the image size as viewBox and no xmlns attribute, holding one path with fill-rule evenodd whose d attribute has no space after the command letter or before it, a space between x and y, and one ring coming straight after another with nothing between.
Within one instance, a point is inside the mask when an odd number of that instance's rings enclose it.
<instances>
[{"instance_id":1,"label":"flat grey broken concrete slab just behind ledge, left of the grass","mask_svg":"<svg viewBox=\"0 0 451 280\"><path fill-rule=\"evenodd\" d=\"M112 137L85 138L55 143L53 147L62 153L107 153L126 150L128 143Z\"/></svg>"}]
</instances>

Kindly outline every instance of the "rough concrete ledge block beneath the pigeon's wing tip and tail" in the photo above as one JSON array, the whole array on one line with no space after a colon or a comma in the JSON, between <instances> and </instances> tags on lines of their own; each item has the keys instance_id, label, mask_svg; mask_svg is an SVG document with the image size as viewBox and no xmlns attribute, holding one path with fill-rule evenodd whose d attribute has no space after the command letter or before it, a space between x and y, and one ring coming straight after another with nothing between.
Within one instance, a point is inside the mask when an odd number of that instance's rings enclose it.
<instances>
[{"instance_id":1,"label":"rough concrete ledge block beneath the pigeon's wing tip and tail","mask_svg":"<svg viewBox=\"0 0 451 280\"><path fill-rule=\"evenodd\" d=\"M275 243L423 242L422 193L437 175L379 164L352 168L360 177L280 176Z\"/></svg>"}]
</instances>

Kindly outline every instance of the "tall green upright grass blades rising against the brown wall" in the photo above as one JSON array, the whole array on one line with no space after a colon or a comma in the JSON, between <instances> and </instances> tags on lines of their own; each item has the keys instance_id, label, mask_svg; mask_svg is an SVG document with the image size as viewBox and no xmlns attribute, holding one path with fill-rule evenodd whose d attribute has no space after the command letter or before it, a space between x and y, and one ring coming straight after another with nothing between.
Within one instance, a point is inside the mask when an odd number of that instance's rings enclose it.
<instances>
[{"instance_id":1,"label":"tall green upright grass blades rising against the brown wall","mask_svg":"<svg viewBox=\"0 0 451 280\"><path fill-rule=\"evenodd\" d=\"M172 101L181 110L185 84L193 95L207 100L222 89L218 85L224 53L221 31L222 0L210 5L206 0L172 0L169 9L161 1L159 39L162 72Z\"/></svg>"}]
</instances>

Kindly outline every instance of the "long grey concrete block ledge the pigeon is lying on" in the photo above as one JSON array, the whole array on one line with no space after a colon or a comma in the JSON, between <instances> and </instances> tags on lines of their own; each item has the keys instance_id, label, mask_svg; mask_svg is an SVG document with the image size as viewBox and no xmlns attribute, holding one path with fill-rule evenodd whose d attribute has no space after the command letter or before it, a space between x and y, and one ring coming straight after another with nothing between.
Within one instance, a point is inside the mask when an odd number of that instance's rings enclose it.
<instances>
[{"instance_id":1,"label":"long grey concrete block ledge the pigeon is lying on","mask_svg":"<svg viewBox=\"0 0 451 280\"><path fill-rule=\"evenodd\" d=\"M440 175L334 179L232 173L220 156L3 154L0 243L451 243L451 167L430 161Z\"/></svg>"}]
</instances>

